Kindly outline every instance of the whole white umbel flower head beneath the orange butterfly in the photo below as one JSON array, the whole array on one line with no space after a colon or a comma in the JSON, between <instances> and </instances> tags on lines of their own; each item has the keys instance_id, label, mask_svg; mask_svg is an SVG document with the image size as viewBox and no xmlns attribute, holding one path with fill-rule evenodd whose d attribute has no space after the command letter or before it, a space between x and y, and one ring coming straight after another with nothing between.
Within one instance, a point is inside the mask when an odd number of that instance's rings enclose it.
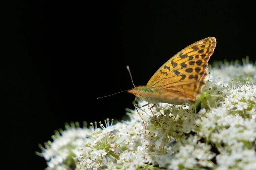
<instances>
[{"instance_id":1,"label":"whole white umbel flower head beneath the orange butterfly","mask_svg":"<svg viewBox=\"0 0 256 170\"><path fill-rule=\"evenodd\" d=\"M256 67L215 64L199 102L127 109L130 121L66 125L41 153L47 170L256 169ZM228 73L228 74L227 74ZM237 79L238 77L238 79ZM146 104L138 100L138 105ZM61 134L61 135L60 135Z\"/></svg>"}]
</instances>

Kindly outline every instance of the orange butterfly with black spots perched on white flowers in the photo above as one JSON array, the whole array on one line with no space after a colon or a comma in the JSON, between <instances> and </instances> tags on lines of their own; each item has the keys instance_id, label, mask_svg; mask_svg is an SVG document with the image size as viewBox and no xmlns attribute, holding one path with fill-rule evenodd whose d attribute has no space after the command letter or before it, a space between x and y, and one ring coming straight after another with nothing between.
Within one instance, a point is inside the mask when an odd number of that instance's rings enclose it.
<instances>
[{"instance_id":1,"label":"orange butterfly with black spots perched on white flowers","mask_svg":"<svg viewBox=\"0 0 256 170\"><path fill-rule=\"evenodd\" d=\"M128 92L148 102L140 107L153 104L150 110L160 102L175 105L186 102L195 103L205 85L208 61L215 47L216 39L214 37L191 44L164 63L150 78L146 86L134 87ZM140 107L136 107L139 115L138 108ZM152 114L154 115L153 112ZM155 115L154 117L156 119ZM143 120L141 116L140 118ZM157 119L156 122L158 123Z\"/></svg>"}]
</instances>

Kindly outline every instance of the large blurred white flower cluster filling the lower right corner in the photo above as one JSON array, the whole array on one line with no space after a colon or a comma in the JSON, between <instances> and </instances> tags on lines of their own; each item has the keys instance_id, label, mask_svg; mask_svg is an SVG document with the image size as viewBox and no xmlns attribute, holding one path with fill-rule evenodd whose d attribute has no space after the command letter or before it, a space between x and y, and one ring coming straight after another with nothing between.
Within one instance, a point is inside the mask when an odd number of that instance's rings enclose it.
<instances>
[{"instance_id":1,"label":"large blurred white flower cluster filling the lower right corner","mask_svg":"<svg viewBox=\"0 0 256 170\"><path fill-rule=\"evenodd\" d=\"M256 169L256 85L246 82L238 88L225 90L220 107L201 109L199 137L211 142L220 154L217 170Z\"/></svg>"}]
</instances>

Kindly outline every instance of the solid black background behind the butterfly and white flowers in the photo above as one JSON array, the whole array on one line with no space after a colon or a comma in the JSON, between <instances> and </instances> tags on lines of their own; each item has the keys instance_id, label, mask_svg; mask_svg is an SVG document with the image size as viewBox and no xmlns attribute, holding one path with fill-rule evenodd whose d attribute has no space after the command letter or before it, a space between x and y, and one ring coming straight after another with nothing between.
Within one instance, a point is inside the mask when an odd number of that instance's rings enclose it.
<instances>
[{"instance_id":1,"label":"solid black background behind the butterfly and white flowers","mask_svg":"<svg viewBox=\"0 0 256 170\"><path fill-rule=\"evenodd\" d=\"M255 4L9 2L1 18L2 157L9 168L44 169L38 143L65 122L121 120L134 108L126 65L146 85L173 55L214 36L214 60L255 61ZM254 51L253 51L254 50Z\"/></svg>"}]
</instances>

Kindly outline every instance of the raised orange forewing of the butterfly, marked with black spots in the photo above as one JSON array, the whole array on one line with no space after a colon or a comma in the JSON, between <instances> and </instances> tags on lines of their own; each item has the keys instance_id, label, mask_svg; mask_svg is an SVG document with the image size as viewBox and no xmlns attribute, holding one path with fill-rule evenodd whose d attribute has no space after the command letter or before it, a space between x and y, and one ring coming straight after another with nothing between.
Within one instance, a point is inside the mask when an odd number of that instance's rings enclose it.
<instances>
[{"instance_id":1,"label":"raised orange forewing of the butterfly, marked with black spots","mask_svg":"<svg viewBox=\"0 0 256 170\"><path fill-rule=\"evenodd\" d=\"M156 71L147 86L160 90L198 82L206 74L207 62L213 54L215 44L216 39L208 37L184 48ZM195 78L192 79L192 76Z\"/></svg>"}]
</instances>

